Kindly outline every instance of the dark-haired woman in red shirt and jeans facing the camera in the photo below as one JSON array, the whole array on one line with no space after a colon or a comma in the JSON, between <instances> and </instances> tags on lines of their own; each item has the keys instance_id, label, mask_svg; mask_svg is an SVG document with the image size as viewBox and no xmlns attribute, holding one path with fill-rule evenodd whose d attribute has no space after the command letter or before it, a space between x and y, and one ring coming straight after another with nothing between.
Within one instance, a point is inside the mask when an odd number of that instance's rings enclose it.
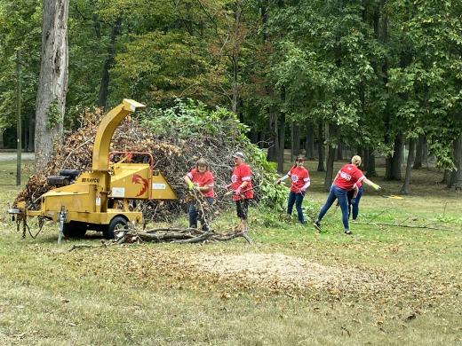
<instances>
[{"instance_id":1,"label":"dark-haired woman in red shirt and jeans facing the camera","mask_svg":"<svg viewBox=\"0 0 462 346\"><path fill-rule=\"evenodd\" d=\"M289 201L287 202L287 214L292 215L292 209L295 203L300 224L307 224L303 216L301 204L307 192L307 187L310 185L308 170L303 167L304 161L302 156L297 157L295 165L292 166L291 170L276 181L276 184L281 184L285 179L291 177L291 192L289 193Z\"/></svg>"}]
</instances>

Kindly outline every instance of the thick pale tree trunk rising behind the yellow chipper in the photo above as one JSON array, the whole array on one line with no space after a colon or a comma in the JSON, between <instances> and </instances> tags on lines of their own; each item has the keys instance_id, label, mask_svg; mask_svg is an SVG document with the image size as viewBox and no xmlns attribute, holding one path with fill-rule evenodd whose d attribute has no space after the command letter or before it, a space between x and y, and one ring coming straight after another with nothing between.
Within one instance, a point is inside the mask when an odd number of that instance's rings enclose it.
<instances>
[{"instance_id":1,"label":"thick pale tree trunk rising behind the yellow chipper","mask_svg":"<svg viewBox=\"0 0 462 346\"><path fill-rule=\"evenodd\" d=\"M36 98L36 170L52 155L53 141L62 134L68 91L68 0L45 0L42 61Z\"/></svg>"}]
</instances>

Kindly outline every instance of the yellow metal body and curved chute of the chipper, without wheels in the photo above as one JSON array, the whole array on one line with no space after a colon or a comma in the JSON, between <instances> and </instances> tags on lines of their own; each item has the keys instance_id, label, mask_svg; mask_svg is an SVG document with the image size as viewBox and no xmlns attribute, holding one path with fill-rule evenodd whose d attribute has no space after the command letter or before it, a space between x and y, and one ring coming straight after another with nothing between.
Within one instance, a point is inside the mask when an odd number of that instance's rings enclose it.
<instances>
[{"instance_id":1,"label":"yellow metal body and curved chute of the chipper, without wheels","mask_svg":"<svg viewBox=\"0 0 462 346\"><path fill-rule=\"evenodd\" d=\"M162 174L153 172L148 164L117 162L113 165L113 174L109 173L109 147L117 126L128 114L144 107L137 101L124 98L122 104L110 110L96 133L92 171L82 173L74 184L44 193L40 210L27 210L27 216L59 221L60 210L64 207L66 223L109 224L115 216L140 223L142 213L131 211L129 200L176 200L176 193ZM113 205L109 205L109 201Z\"/></svg>"}]
</instances>

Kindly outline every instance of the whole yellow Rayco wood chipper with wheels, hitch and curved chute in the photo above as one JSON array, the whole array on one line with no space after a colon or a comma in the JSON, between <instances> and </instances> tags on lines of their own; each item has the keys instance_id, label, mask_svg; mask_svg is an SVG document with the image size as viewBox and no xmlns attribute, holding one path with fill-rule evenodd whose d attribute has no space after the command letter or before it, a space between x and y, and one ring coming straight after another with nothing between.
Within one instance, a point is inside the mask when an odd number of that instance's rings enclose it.
<instances>
[{"instance_id":1,"label":"whole yellow Rayco wood chipper with wheels, hitch and curved chute","mask_svg":"<svg viewBox=\"0 0 462 346\"><path fill-rule=\"evenodd\" d=\"M129 222L143 222L142 213L131 210L131 200L177 199L162 174L153 170L150 153L143 153L149 157L149 163L130 163L126 159L131 153L116 152L124 155L123 160L109 164L109 146L117 126L128 114L144 107L132 99L123 99L122 104L104 116L93 145L91 171L79 174L63 169L58 176L47 178L48 184L61 186L40 197L39 210L28 210L25 202L9 209L13 218L23 222L24 230L27 218L38 216L42 221L60 223L58 242L63 235L81 237L87 230L103 232L106 239L113 239Z\"/></svg>"}]
</instances>

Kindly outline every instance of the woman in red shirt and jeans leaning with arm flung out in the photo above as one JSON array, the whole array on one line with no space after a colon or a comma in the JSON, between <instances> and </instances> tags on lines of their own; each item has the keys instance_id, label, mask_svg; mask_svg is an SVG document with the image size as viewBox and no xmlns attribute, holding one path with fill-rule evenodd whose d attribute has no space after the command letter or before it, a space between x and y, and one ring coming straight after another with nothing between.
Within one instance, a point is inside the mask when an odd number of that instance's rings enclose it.
<instances>
[{"instance_id":1,"label":"woman in red shirt and jeans leaning with arm flung out","mask_svg":"<svg viewBox=\"0 0 462 346\"><path fill-rule=\"evenodd\" d=\"M348 191L357 189L358 183L370 185L376 191L381 188L377 184L372 183L367 177L364 177L361 169L358 169L359 166L361 166L361 157L354 155L351 159L351 163L347 163L339 170L339 173L335 176L334 183L331 185L331 191L327 197L327 201L323 205L323 208L319 211L319 215L313 224L316 230L321 231L321 220L323 220L323 216L327 213L327 210L331 208L332 203L336 199L339 199L339 205L342 209L344 232L346 234L351 234L348 224Z\"/></svg>"}]
</instances>

